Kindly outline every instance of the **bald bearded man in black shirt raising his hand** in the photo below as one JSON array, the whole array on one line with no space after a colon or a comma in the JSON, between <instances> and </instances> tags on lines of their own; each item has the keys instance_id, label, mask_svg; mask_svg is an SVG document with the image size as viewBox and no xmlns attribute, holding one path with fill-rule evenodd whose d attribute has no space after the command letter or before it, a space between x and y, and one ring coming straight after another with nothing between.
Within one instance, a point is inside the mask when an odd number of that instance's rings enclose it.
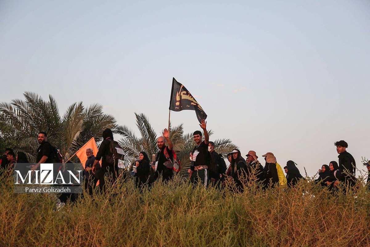
<instances>
[{"instance_id":1,"label":"bald bearded man in black shirt raising his hand","mask_svg":"<svg viewBox=\"0 0 370 247\"><path fill-rule=\"evenodd\" d=\"M174 148L174 145L169 138L169 132L166 128L163 130L162 135L163 136L160 136L157 139L159 152L155 157L155 180L157 180L161 176L162 181L168 181L174 176L174 173L173 168L170 164L171 162L169 162L165 156L165 151L168 154L169 158L172 160L172 149ZM168 146L166 146L166 141L168 143Z\"/></svg>"}]
</instances>

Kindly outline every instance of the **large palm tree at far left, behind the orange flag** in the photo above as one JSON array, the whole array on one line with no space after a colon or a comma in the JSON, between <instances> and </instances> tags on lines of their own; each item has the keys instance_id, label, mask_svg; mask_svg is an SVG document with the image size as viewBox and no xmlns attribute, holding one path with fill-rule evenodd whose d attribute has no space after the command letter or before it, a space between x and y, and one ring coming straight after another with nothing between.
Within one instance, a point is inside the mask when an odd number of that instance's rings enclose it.
<instances>
[{"instance_id":1,"label":"large palm tree at far left, behind the orange flag","mask_svg":"<svg viewBox=\"0 0 370 247\"><path fill-rule=\"evenodd\" d=\"M96 142L101 141L102 131L115 127L115 118L104 114L101 104L85 108L82 102L76 102L61 117L51 95L48 101L31 92L23 95L26 100L0 103L0 126L1 132L15 138L16 150L27 153L31 161L35 160L40 131L45 131L48 141L68 159L92 136Z\"/></svg>"}]
</instances>

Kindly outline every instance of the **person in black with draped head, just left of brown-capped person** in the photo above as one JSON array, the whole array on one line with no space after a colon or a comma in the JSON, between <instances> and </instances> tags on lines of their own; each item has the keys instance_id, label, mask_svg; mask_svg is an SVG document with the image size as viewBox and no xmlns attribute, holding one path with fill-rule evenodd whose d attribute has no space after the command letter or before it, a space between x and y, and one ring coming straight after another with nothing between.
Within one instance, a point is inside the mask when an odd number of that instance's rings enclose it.
<instances>
[{"instance_id":1,"label":"person in black with draped head, just left of brown-capped person","mask_svg":"<svg viewBox=\"0 0 370 247\"><path fill-rule=\"evenodd\" d=\"M247 165L244 158L241 156L239 149L232 150L231 154L231 174L229 176L229 181L234 181L238 190L242 192L244 190L243 183L245 183L248 178L250 166Z\"/></svg>"}]
</instances>

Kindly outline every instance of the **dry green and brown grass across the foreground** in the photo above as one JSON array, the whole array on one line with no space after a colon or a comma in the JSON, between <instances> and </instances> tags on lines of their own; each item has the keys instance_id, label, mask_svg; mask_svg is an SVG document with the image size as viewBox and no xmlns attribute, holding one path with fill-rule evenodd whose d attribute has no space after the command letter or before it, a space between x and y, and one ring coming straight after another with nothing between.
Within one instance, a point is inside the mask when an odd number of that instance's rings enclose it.
<instances>
[{"instance_id":1,"label":"dry green and brown grass across the foreground","mask_svg":"<svg viewBox=\"0 0 370 247\"><path fill-rule=\"evenodd\" d=\"M239 194L176 178L139 194L128 181L53 211L52 196L0 182L1 246L370 246L364 187L332 195L310 181L252 183Z\"/></svg>"}]
</instances>

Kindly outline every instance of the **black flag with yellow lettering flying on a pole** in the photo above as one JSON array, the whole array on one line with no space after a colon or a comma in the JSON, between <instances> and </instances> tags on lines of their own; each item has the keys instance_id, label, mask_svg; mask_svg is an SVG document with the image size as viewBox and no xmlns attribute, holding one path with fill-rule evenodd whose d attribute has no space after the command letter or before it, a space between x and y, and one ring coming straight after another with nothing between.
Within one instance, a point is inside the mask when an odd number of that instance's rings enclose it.
<instances>
[{"instance_id":1,"label":"black flag with yellow lettering flying on a pole","mask_svg":"<svg viewBox=\"0 0 370 247\"><path fill-rule=\"evenodd\" d=\"M182 110L194 110L199 123L202 123L202 119L207 118L207 114L203 111L202 107L199 106L198 102L189 93L189 91L175 78L172 79L172 90L171 99L169 100L169 110L182 111Z\"/></svg>"}]
</instances>

